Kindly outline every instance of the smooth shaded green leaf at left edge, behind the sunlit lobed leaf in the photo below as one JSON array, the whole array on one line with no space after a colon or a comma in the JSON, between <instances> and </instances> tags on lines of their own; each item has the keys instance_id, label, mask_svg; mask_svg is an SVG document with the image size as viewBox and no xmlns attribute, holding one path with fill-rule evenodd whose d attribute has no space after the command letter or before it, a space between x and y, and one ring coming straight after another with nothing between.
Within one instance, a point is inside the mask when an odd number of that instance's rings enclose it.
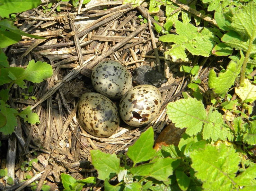
<instances>
[{"instance_id":1,"label":"smooth shaded green leaf at left edge, behind the sunlit lobed leaf","mask_svg":"<svg viewBox=\"0 0 256 191\"><path fill-rule=\"evenodd\" d=\"M0 86L9 83L12 81L12 79L9 77L9 72L14 74L14 76L19 76L25 71L24 68L20 67L10 67L10 68L2 68L0 69L1 75L0 75Z\"/></svg>"}]
</instances>

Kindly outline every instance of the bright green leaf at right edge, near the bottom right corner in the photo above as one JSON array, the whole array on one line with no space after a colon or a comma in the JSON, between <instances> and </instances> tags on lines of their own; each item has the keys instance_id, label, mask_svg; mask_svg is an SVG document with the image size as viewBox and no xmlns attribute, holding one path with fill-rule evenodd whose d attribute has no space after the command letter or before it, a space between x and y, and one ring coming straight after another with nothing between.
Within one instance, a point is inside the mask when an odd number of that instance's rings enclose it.
<instances>
[{"instance_id":1,"label":"bright green leaf at right edge, near the bottom right corner","mask_svg":"<svg viewBox=\"0 0 256 191\"><path fill-rule=\"evenodd\" d=\"M256 164L253 164L253 165L250 165L242 174L238 175L235 178L235 182L239 186L245 186L245 188L251 185L256 186L255 177L256 177ZM252 189L252 190L255 190L255 189Z\"/></svg>"}]
</instances>

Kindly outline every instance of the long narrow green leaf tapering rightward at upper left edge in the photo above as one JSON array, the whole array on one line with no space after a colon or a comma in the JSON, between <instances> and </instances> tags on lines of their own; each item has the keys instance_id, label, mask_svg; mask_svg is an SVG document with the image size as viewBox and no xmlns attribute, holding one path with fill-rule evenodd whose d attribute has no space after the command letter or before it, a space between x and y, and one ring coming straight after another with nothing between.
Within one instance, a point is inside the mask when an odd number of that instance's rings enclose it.
<instances>
[{"instance_id":1,"label":"long narrow green leaf tapering rightward at upper left edge","mask_svg":"<svg viewBox=\"0 0 256 191\"><path fill-rule=\"evenodd\" d=\"M1 6L0 6L0 10L1 10ZM3 20L0 21L0 27L2 27L4 29L7 29L11 32L14 32L16 34L20 34L20 35L23 35L23 36L26 36L26 37L30 37L30 38L45 39L44 37L39 37L39 36L36 36L36 35L32 35L32 34L28 34L26 32L23 32L23 31L19 30L17 27L15 27L13 24L14 24L14 22L12 22L9 19L3 19Z\"/></svg>"}]
</instances>

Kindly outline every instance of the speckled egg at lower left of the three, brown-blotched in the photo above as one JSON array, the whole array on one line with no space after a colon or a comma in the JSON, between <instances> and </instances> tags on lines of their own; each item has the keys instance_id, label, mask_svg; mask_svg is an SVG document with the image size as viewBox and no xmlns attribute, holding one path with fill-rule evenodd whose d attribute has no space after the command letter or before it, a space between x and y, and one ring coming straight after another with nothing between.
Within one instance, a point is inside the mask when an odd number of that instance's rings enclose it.
<instances>
[{"instance_id":1,"label":"speckled egg at lower left of the three, brown-blotched","mask_svg":"<svg viewBox=\"0 0 256 191\"><path fill-rule=\"evenodd\" d=\"M112 135L120 123L116 105L99 93L84 93L78 105L78 116L84 129L95 137Z\"/></svg>"}]
</instances>

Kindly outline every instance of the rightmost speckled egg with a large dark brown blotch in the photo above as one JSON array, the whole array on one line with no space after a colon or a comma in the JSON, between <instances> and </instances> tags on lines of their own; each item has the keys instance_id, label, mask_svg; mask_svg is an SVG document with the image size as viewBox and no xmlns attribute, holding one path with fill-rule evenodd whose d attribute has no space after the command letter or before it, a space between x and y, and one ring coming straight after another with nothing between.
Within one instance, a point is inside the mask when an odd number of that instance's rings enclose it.
<instances>
[{"instance_id":1,"label":"rightmost speckled egg with a large dark brown blotch","mask_svg":"<svg viewBox=\"0 0 256 191\"><path fill-rule=\"evenodd\" d=\"M155 86L136 86L127 91L120 100L120 117L133 127L147 125L158 115L161 101L161 93Z\"/></svg>"}]
</instances>

